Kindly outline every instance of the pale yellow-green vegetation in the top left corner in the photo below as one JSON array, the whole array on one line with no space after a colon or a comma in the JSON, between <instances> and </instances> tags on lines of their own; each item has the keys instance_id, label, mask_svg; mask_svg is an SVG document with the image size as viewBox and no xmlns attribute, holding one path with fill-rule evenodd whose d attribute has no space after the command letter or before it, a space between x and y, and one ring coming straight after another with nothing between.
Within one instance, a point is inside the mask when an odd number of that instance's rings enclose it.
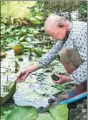
<instances>
[{"instance_id":1,"label":"pale yellow-green vegetation in the top left corner","mask_svg":"<svg viewBox=\"0 0 88 120\"><path fill-rule=\"evenodd\" d=\"M35 3L36 1L3 1L1 2L1 17L23 18L29 12L27 7L32 7Z\"/></svg>"}]
</instances>

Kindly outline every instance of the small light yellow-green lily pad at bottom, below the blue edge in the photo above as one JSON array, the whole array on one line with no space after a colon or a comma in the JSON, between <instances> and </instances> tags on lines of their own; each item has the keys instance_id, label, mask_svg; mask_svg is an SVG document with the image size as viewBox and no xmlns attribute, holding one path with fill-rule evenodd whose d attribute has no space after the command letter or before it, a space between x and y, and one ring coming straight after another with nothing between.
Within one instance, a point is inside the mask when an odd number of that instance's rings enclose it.
<instances>
[{"instance_id":1,"label":"small light yellow-green lily pad at bottom, below the blue edge","mask_svg":"<svg viewBox=\"0 0 88 120\"><path fill-rule=\"evenodd\" d=\"M49 108L49 112L54 120L68 120L68 108L66 104L52 106Z\"/></svg>"}]
</instances>

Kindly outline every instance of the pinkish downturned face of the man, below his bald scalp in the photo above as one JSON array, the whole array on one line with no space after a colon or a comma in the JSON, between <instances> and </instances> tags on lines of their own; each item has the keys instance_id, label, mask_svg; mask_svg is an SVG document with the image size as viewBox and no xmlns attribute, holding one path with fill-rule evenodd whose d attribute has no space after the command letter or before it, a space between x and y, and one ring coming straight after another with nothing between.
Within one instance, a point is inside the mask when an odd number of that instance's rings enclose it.
<instances>
[{"instance_id":1,"label":"pinkish downturned face of the man, below his bald scalp","mask_svg":"<svg viewBox=\"0 0 88 120\"><path fill-rule=\"evenodd\" d=\"M52 38L56 40L63 40L67 34L67 29L64 25L58 25L51 27L51 29L45 30Z\"/></svg>"}]
</instances>

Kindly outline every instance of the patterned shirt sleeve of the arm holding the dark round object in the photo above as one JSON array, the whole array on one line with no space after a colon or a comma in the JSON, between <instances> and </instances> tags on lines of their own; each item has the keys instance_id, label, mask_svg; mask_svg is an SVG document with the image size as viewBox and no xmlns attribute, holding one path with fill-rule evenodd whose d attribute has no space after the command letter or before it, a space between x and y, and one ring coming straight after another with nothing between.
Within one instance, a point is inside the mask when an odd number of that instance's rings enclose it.
<instances>
[{"instance_id":1,"label":"patterned shirt sleeve of the arm holding the dark round object","mask_svg":"<svg viewBox=\"0 0 88 120\"><path fill-rule=\"evenodd\" d=\"M77 34L77 33L76 33ZM76 50L79 52L83 63L70 75L71 80L76 84L80 84L87 80L87 30L86 26L81 30L79 35L74 40Z\"/></svg>"}]
</instances>

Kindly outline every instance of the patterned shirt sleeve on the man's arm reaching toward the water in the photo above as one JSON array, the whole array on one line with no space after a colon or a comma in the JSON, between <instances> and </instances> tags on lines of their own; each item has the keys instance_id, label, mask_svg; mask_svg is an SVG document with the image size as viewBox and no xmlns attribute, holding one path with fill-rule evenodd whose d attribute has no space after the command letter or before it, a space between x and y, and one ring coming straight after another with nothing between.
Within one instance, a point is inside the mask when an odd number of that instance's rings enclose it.
<instances>
[{"instance_id":1,"label":"patterned shirt sleeve on the man's arm reaching toward the water","mask_svg":"<svg viewBox=\"0 0 88 120\"><path fill-rule=\"evenodd\" d=\"M53 48L39 59L38 63L40 67L42 68L47 67L47 65L49 65L56 58L61 48L62 48L62 41L57 41L57 43L53 46Z\"/></svg>"}]
</instances>

